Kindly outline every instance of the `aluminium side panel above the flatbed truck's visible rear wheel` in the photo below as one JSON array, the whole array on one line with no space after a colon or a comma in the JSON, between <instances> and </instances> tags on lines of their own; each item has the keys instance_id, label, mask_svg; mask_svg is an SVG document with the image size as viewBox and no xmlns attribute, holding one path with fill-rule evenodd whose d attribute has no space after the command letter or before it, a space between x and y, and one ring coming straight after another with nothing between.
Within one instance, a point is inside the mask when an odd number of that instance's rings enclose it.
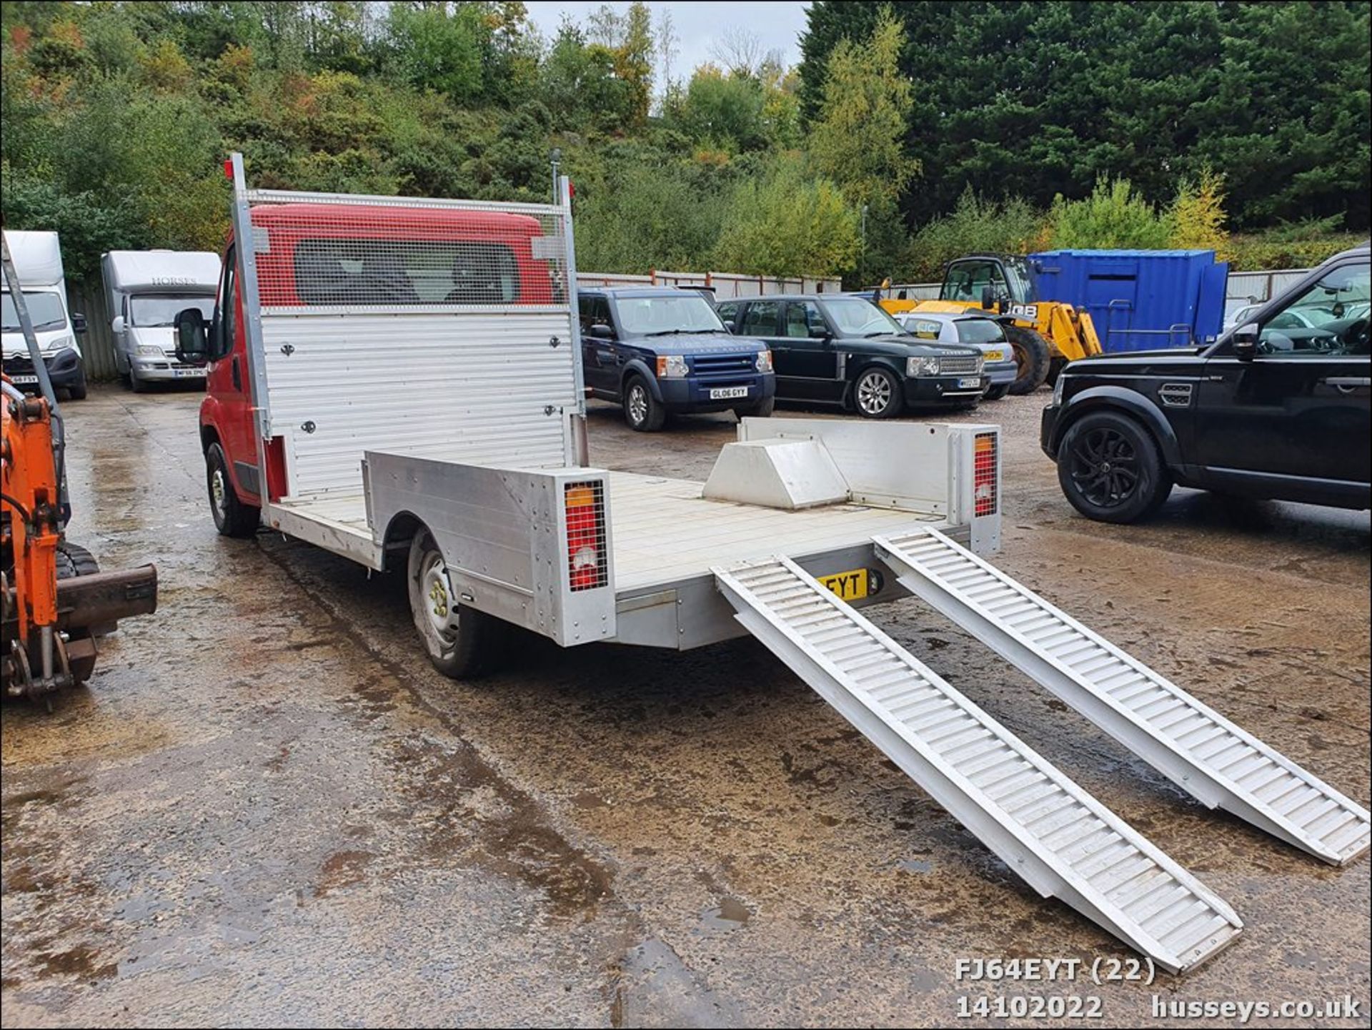
<instances>
[{"instance_id":1,"label":"aluminium side panel above the flatbed truck's visible rear wheel","mask_svg":"<svg viewBox=\"0 0 1372 1030\"><path fill-rule=\"evenodd\" d=\"M462 603L564 647L615 635L615 568L605 473L582 468L497 468L366 451L368 516L384 543L398 516L434 535ZM598 486L604 586L569 586L564 492Z\"/></svg>"}]
</instances>

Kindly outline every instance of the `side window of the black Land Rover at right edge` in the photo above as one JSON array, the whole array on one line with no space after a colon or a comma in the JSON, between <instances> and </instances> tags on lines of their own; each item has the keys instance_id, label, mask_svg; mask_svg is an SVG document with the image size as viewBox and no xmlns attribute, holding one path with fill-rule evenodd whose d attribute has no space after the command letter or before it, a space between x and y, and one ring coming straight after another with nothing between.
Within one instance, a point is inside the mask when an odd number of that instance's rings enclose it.
<instances>
[{"instance_id":1,"label":"side window of the black Land Rover at right edge","mask_svg":"<svg viewBox=\"0 0 1372 1030\"><path fill-rule=\"evenodd\" d=\"M1258 351L1284 358L1367 355L1369 266L1334 269L1264 321Z\"/></svg>"}]
</instances>

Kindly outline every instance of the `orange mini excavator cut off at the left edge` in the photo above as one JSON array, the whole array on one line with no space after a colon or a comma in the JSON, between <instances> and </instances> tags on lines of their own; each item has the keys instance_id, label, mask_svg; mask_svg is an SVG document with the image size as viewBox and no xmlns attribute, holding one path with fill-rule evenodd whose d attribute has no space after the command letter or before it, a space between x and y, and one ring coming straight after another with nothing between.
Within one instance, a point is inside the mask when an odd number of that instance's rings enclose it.
<instances>
[{"instance_id":1,"label":"orange mini excavator cut off at the left edge","mask_svg":"<svg viewBox=\"0 0 1372 1030\"><path fill-rule=\"evenodd\" d=\"M3 250L5 303L27 339L40 396L26 396L8 376L0 383L0 684L7 697L43 697L91 676L95 639L118 619L156 609L158 571L100 572L89 551L64 539L71 509L62 416L8 241Z\"/></svg>"}]
</instances>

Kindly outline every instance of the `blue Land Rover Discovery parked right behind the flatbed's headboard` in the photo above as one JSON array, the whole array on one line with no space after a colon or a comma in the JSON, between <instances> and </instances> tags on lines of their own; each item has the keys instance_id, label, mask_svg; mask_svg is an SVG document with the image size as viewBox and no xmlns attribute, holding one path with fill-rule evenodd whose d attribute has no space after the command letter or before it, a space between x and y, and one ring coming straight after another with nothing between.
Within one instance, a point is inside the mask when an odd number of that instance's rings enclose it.
<instances>
[{"instance_id":1,"label":"blue Land Rover Discovery parked right behind the flatbed's headboard","mask_svg":"<svg viewBox=\"0 0 1372 1030\"><path fill-rule=\"evenodd\" d=\"M698 292L590 288L578 300L586 388L623 405L631 428L661 429L675 413L772 413L767 344L730 333Z\"/></svg>"}]
</instances>

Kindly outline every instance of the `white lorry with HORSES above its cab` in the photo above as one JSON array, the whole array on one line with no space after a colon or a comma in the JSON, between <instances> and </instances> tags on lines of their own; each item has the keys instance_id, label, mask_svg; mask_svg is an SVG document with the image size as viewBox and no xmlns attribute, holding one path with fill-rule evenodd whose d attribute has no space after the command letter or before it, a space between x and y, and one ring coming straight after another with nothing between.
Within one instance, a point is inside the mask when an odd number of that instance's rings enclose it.
<instances>
[{"instance_id":1,"label":"white lorry with HORSES above its cab","mask_svg":"<svg viewBox=\"0 0 1372 1030\"><path fill-rule=\"evenodd\" d=\"M114 332L114 365L141 392L155 381L204 379L204 369L176 358L177 311L214 314L220 255L209 251L110 251L100 258Z\"/></svg>"}]
</instances>

